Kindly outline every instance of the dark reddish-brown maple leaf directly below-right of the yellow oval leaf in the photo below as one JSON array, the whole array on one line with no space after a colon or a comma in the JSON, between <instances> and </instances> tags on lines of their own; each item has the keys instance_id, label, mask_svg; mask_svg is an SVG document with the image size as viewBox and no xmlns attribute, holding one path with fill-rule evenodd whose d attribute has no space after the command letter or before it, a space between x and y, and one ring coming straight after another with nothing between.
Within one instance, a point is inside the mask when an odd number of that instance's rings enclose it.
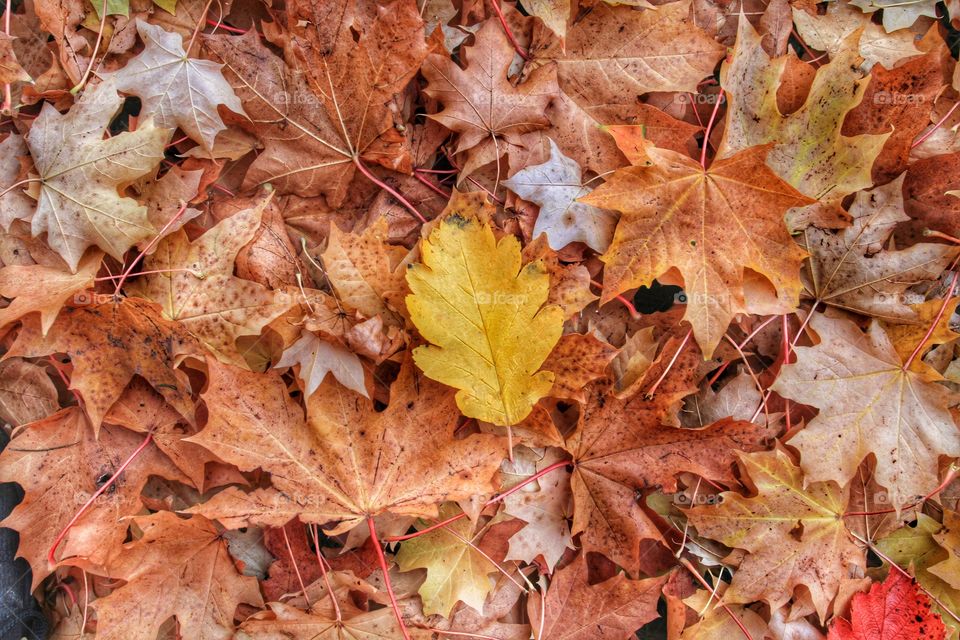
<instances>
[{"instance_id":1,"label":"dark reddish-brown maple leaf directly below-right of the yellow oval leaf","mask_svg":"<svg viewBox=\"0 0 960 640\"><path fill-rule=\"evenodd\" d=\"M638 568L642 539L661 539L637 502L637 488L674 492L675 476L683 471L732 483L736 452L761 449L775 435L764 426L730 420L703 429L664 424L671 407L694 388L690 376L698 357L695 350L682 354L651 400L642 394L621 400L608 386L593 385L580 424L567 438L574 461L573 533L582 534L585 550L628 571Z\"/></svg>"}]
</instances>

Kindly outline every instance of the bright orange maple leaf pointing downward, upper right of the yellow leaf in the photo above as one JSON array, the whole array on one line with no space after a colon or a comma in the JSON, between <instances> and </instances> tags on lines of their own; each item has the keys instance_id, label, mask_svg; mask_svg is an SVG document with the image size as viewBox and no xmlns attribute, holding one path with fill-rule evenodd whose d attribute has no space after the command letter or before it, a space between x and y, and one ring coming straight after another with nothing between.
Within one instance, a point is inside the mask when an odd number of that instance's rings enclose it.
<instances>
[{"instance_id":1,"label":"bright orange maple leaf pointing downward, upper right of the yellow leaf","mask_svg":"<svg viewBox=\"0 0 960 640\"><path fill-rule=\"evenodd\" d=\"M602 256L601 302L677 268L687 299L684 319L705 357L733 317L747 310L745 269L766 277L780 299L796 307L804 252L783 216L813 201L764 164L767 151L751 147L704 170L682 154L648 146L651 166L620 169L582 198L623 213Z\"/></svg>"}]
</instances>

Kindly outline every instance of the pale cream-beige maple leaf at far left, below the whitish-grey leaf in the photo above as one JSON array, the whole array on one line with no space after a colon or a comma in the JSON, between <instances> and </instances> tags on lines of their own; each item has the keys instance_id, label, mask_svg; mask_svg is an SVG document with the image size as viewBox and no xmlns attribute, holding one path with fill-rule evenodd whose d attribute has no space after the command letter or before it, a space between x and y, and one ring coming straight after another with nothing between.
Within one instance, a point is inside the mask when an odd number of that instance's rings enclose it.
<instances>
[{"instance_id":1,"label":"pale cream-beige maple leaf at far left, below the whitish-grey leaf","mask_svg":"<svg viewBox=\"0 0 960 640\"><path fill-rule=\"evenodd\" d=\"M120 103L109 80L87 88L65 115L44 103L25 138L40 178L33 235L45 232L72 271L91 245L122 261L156 231L147 208L118 189L160 164L170 131L144 120L104 140Z\"/></svg>"}]
</instances>

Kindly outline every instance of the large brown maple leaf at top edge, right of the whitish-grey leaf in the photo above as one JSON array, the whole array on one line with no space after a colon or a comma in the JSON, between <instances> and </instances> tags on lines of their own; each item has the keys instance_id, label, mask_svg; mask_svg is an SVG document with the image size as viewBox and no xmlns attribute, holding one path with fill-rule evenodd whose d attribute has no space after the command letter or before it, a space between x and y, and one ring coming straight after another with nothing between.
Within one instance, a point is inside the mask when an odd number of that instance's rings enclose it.
<instances>
[{"instance_id":1,"label":"large brown maple leaf at top edge, right of the whitish-grey leaf","mask_svg":"<svg viewBox=\"0 0 960 640\"><path fill-rule=\"evenodd\" d=\"M264 143L245 185L269 182L339 206L364 160L409 171L389 103L429 52L416 3L391 0L371 15L353 0L291 2L287 24L276 34L285 59L253 30L204 38Z\"/></svg>"}]
</instances>

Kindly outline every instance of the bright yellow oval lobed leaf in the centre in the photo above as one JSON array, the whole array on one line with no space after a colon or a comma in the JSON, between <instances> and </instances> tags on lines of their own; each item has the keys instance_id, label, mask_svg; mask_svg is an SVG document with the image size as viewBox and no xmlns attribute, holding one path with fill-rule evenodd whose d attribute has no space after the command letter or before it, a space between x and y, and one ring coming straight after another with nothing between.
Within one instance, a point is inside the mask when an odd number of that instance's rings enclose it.
<instances>
[{"instance_id":1,"label":"bright yellow oval lobed leaf in the centre","mask_svg":"<svg viewBox=\"0 0 960 640\"><path fill-rule=\"evenodd\" d=\"M553 385L553 374L539 371L563 329L560 307L544 306L550 276L540 261L522 264L516 238L497 242L489 225L459 215L421 249L406 300L430 342L414 350L417 366L460 390L464 415L517 424Z\"/></svg>"}]
</instances>

